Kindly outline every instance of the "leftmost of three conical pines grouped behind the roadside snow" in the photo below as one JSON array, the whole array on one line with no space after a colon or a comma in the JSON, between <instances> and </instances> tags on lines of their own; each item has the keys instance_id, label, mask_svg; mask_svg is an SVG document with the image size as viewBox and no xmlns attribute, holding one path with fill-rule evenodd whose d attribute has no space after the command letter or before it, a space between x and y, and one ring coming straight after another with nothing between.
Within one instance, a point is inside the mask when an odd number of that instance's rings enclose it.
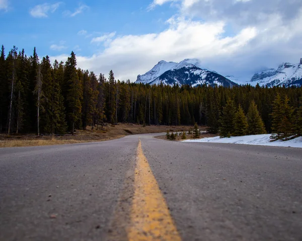
<instances>
[{"instance_id":1,"label":"leftmost of three conical pines grouped behind the roadside snow","mask_svg":"<svg viewBox=\"0 0 302 241\"><path fill-rule=\"evenodd\" d=\"M229 99L223 107L222 115L220 117L220 136L231 136L235 129L235 106L234 102Z\"/></svg>"}]
</instances>

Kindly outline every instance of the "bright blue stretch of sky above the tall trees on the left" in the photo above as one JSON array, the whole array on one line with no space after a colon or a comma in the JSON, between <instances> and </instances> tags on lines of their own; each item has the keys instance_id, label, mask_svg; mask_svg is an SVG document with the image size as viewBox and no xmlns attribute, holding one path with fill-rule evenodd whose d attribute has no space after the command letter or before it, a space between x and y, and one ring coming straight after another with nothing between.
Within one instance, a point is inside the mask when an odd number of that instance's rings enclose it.
<instances>
[{"instance_id":1,"label":"bright blue stretch of sky above the tall trees on the left","mask_svg":"<svg viewBox=\"0 0 302 241\"><path fill-rule=\"evenodd\" d=\"M102 50L100 46L90 44L94 37L112 32L116 35L160 32L165 28L161 19L173 15L169 6L147 11L148 2L139 0L129 1L130 4L120 0L48 1L42 4L34 0L12 0L8 3L8 9L0 13L1 22L6 23L2 25L1 44L7 49L13 45L25 48L28 54L36 46L39 55L56 55L71 50L92 55ZM31 14L35 7L37 11ZM72 16L77 11L79 13ZM50 48L53 45L58 48Z\"/></svg>"}]
</instances>

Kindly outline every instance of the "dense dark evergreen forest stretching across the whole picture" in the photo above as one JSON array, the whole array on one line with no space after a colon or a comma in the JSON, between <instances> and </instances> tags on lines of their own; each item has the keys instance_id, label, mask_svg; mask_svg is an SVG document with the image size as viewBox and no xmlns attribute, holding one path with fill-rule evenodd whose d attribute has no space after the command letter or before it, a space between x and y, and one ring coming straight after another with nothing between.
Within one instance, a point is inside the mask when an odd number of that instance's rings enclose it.
<instances>
[{"instance_id":1,"label":"dense dark evergreen forest stretching across the whole picture","mask_svg":"<svg viewBox=\"0 0 302 241\"><path fill-rule=\"evenodd\" d=\"M36 48L27 56L14 46L0 53L0 132L74 133L88 125L137 123L209 127L222 136L302 134L302 91L291 87L233 88L135 84L77 68L71 52L66 62Z\"/></svg>"}]
</instances>

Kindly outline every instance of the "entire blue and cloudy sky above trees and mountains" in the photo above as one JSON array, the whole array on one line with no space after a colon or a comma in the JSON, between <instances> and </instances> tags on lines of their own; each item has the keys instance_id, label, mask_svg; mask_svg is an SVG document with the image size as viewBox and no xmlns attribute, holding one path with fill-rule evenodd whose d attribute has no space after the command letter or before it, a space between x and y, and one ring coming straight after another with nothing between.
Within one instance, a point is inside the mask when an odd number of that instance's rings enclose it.
<instances>
[{"instance_id":1,"label":"entire blue and cloudy sky above trees and mountains","mask_svg":"<svg viewBox=\"0 0 302 241\"><path fill-rule=\"evenodd\" d=\"M0 44L136 81L161 60L197 58L245 83L302 58L301 0L0 0Z\"/></svg>"}]
</instances>

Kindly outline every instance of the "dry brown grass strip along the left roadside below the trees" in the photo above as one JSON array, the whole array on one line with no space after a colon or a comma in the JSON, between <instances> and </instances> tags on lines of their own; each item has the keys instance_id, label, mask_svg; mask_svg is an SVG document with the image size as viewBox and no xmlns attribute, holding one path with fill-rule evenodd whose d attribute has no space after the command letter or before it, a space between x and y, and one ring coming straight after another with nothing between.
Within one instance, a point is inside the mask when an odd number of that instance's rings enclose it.
<instances>
[{"instance_id":1,"label":"dry brown grass strip along the left roadside below the trees","mask_svg":"<svg viewBox=\"0 0 302 241\"><path fill-rule=\"evenodd\" d=\"M119 124L104 126L103 129L92 129L91 126L86 130L77 130L74 135L66 134L60 136L54 135L34 135L34 134L0 134L0 147L16 146L37 146L37 145L59 145L79 142L104 141L120 138L132 134L181 132L187 131L190 126L145 126L135 124ZM192 127L191 127L192 128Z\"/></svg>"}]
</instances>

